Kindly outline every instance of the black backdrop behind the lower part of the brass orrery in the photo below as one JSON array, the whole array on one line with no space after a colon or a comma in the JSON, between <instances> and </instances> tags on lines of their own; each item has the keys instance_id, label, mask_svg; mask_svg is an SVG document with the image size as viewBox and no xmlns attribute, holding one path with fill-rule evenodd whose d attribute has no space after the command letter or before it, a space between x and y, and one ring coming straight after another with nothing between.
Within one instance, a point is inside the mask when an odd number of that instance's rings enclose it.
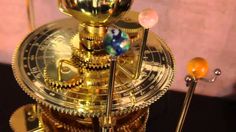
<instances>
[{"instance_id":1,"label":"black backdrop behind the lower part of the brass orrery","mask_svg":"<svg viewBox=\"0 0 236 132\"><path fill-rule=\"evenodd\" d=\"M10 65L0 64L0 132L10 132L11 114L34 101L27 96L12 73ZM184 93L168 91L150 109L148 132L174 132ZM223 98L194 95L186 117L184 132L236 132L236 102Z\"/></svg>"}]
</instances>

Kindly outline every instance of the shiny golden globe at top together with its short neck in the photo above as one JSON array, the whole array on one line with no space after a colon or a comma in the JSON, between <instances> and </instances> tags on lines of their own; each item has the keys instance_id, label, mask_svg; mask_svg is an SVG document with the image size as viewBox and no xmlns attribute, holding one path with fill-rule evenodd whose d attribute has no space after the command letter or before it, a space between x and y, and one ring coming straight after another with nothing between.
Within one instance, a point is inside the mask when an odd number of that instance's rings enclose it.
<instances>
[{"instance_id":1,"label":"shiny golden globe at top together with its short neck","mask_svg":"<svg viewBox=\"0 0 236 132\"><path fill-rule=\"evenodd\" d=\"M79 21L80 33L92 39L103 39L107 26L119 20L130 9L132 2L133 0L58 0L58 6L61 12ZM88 43L85 43L87 48L95 48Z\"/></svg>"}]
</instances>

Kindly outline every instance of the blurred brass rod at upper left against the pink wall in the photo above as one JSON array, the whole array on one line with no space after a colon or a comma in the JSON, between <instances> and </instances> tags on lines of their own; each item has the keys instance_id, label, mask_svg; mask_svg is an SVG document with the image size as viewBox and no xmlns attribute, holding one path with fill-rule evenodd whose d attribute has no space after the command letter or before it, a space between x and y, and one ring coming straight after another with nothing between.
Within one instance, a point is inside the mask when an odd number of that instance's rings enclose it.
<instances>
[{"instance_id":1,"label":"blurred brass rod at upper left against the pink wall","mask_svg":"<svg viewBox=\"0 0 236 132\"><path fill-rule=\"evenodd\" d=\"M27 19L29 29L32 31L35 29L35 14L34 14L34 5L32 0L26 0L26 9L27 9Z\"/></svg>"}]
</instances>

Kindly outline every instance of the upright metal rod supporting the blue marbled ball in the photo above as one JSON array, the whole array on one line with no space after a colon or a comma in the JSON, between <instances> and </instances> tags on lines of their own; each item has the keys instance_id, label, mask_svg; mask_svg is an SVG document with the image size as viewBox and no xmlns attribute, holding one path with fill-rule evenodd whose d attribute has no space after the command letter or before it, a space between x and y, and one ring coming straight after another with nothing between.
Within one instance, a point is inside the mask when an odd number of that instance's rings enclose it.
<instances>
[{"instance_id":1,"label":"upright metal rod supporting the blue marbled ball","mask_svg":"<svg viewBox=\"0 0 236 132\"><path fill-rule=\"evenodd\" d=\"M112 99L113 99L113 91L115 86L115 73L116 73L116 63L117 57L113 56L111 58L111 68L110 68L110 77L108 83L108 97L107 97L107 107L106 107L106 123L111 123L111 111L112 111ZM112 128L106 127L102 128L103 132L111 132Z\"/></svg>"}]
</instances>

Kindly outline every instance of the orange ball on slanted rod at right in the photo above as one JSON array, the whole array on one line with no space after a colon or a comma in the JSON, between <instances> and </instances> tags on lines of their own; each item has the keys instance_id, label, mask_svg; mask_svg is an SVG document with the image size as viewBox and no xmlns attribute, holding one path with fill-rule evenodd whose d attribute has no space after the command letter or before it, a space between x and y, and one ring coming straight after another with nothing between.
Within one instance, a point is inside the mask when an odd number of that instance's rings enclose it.
<instances>
[{"instance_id":1,"label":"orange ball on slanted rod at right","mask_svg":"<svg viewBox=\"0 0 236 132\"><path fill-rule=\"evenodd\" d=\"M203 78L208 72L208 62L201 57L193 58L188 63L188 74L196 79Z\"/></svg>"}]
</instances>

